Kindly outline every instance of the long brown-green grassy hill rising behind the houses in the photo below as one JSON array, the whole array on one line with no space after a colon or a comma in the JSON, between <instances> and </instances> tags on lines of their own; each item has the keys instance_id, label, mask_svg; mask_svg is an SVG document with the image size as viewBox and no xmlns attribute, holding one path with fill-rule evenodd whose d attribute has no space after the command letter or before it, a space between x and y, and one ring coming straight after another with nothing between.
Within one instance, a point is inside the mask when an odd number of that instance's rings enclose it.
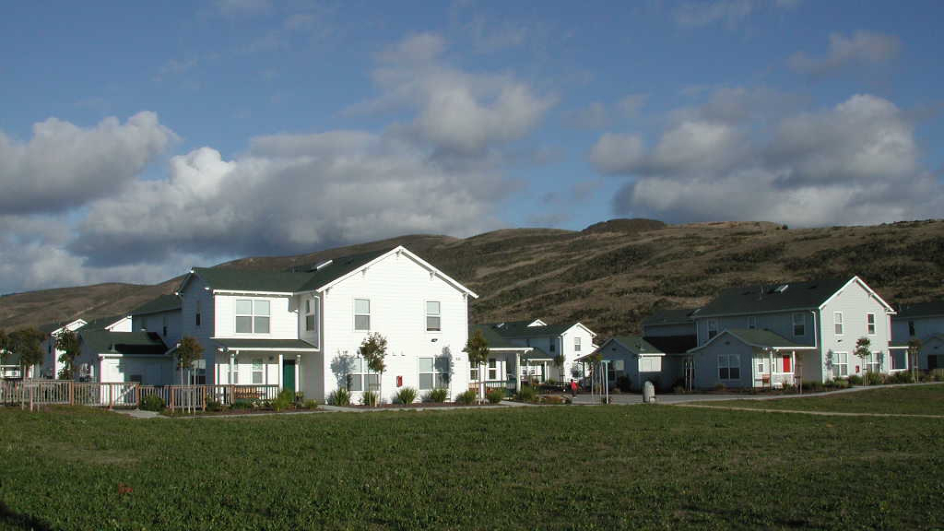
<instances>
[{"instance_id":1,"label":"long brown-green grassy hill rising behind the houses","mask_svg":"<svg viewBox=\"0 0 944 531\"><path fill-rule=\"evenodd\" d=\"M409 235L220 267L301 269L345 254L404 245L480 295L477 321L580 320L599 334L632 333L653 308L699 305L742 283L857 274L891 303L944 298L944 220L786 229L763 222L665 225L611 220L583 231L507 229L458 239ZM169 293L99 284L0 298L0 327L120 314Z\"/></svg>"}]
</instances>

